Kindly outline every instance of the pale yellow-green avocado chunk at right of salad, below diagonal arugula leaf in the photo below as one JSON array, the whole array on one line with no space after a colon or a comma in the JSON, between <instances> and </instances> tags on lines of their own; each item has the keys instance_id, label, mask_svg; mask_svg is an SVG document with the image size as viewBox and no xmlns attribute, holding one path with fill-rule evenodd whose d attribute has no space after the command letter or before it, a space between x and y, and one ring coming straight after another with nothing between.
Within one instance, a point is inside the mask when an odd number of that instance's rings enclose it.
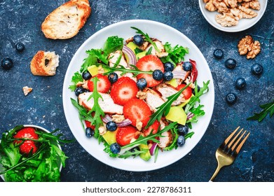
<instances>
[{"instance_id":1,"label":"pale yellow-green avocado chunk at right of salad, below diagonal arugula leaf","mask_svg":"<svg viewBox=\"0 0 274 196\"><path fill-rule=\"evenodd\" d=\"M186 113L181 106L171 106L165 118L180 125L186 125Z\"/></svg>"}]
</instances>

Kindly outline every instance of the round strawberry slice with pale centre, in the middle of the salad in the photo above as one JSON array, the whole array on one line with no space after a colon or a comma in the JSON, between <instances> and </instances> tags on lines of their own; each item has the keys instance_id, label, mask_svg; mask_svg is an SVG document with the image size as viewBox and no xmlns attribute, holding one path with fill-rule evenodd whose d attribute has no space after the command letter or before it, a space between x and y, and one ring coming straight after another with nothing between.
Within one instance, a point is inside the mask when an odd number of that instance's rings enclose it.
<instances>
[{"instance_id":1,"label":"round strawberry slice with pale centre, in the middle of the salad","mask_svg":"<svg viewBox=\"0 0 274 196\"><path fill-rule=\"evenodd\" d=\"M118 78L112 85L110 96L115 104L125 105L130 99L136 98L138 87L134 80L129 77Z\"/></svg>"}]
</instances>

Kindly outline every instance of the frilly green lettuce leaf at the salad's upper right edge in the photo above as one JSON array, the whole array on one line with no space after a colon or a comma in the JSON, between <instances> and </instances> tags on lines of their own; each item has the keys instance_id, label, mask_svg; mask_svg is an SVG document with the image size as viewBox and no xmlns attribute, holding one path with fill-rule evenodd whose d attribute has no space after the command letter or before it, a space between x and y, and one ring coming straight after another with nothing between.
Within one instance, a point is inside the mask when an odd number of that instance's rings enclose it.
<instances>
[{"instance_id":1,"label":"frilly green lettuce leaf at the salad's upper right edge","mask_svg":"<svg viewBox=\"0 0 274 196\"><path fill-rule=\"evenodd\" d=\"M172 64L176 65L179 62L184 61L184 55L189 54L189 48L184 48L183 46L175 45L172 48L170 43L165 43L164 45L165 52L168 53L167 57L161 57L160 60L165 62L172 62Z\"/></svg>"}]
</instances>

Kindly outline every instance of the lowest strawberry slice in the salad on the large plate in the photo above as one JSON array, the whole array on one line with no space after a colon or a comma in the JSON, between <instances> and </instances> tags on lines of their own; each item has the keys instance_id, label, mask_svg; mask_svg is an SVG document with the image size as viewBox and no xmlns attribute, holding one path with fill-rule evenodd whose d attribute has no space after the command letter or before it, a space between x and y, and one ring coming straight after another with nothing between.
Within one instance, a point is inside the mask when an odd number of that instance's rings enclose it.
<instances>
[{"instance_id":1,"label":"lowest strawberry slice in the salad on the large plate","mask_svg":"<svg viewBox=\"0 0 274 196\"><path fill-rule=\"evenodd\" d=\"M119 127L116 133L116 142L120 146L130 144L132 139L138 139L139 132L135 127L131 125L125 127Z\"/></svg>"}]
</instances>

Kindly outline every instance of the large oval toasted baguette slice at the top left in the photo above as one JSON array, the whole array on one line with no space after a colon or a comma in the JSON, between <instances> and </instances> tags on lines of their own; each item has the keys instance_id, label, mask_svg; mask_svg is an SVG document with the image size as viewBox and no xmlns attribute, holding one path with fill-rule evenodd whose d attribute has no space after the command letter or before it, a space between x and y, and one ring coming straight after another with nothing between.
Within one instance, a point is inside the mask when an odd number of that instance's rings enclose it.
<instances>
[{"instance_id":1,"label":"large oval toasted baguette slice at the top left","mask_svg":"<svg viewBox=\"0 0 274 196\"><path fill-rule=\"evenodd\" d=\"M88 0L67 1L46 17L41 30L46 38L71 38L85 25L90 13Z\"/></svg>"}]
</instances>

